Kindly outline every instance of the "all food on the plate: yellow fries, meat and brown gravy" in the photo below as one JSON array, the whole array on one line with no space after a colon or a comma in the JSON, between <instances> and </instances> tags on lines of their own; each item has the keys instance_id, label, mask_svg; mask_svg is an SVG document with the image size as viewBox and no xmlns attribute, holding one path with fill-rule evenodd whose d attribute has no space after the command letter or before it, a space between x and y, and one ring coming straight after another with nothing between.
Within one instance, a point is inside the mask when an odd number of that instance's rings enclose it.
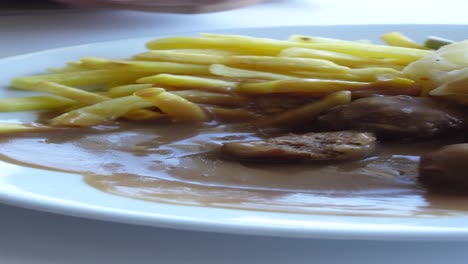
<instances>
[{"instance_id":1,"label":"all food on the plate: yellow fries, meat and brown gravy","mask_svg":"<svg viewBox=\"0 0 468 264\"><path fill-rule=\"evenodd\" d=\"M205 33L83 57L12 80L25 96L0 110L40 116L1 124L0 151L145 200L343 212L353 205L326 200L351 199L372 214L444 214L426 189L468 192L450 167L461 147L438 150L465 143L468 42L382 39ZM20 155L31 146L47 159Z\"/></svg>"}]
</instances>

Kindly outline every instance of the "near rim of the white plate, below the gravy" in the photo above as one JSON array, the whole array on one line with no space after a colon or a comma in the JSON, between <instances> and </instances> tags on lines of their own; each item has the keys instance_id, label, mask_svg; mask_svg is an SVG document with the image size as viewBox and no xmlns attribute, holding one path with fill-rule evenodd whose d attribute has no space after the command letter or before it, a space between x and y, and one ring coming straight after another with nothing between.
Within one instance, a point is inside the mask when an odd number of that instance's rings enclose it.
<instances>
[{"instance_id":1,"label":"near rim of the white plate, below the gravy","mask_svg":"<svg viewBox=\"0 0 468 264\"><path fill-rule=\"evenodd\" d=\"M1 190L1 187L0 187ZM22 192L22 191L21 191ZM321 228L298 229L287 226L265 226L245 225L210 221L207 218L181 218L167 217L154 214L142 213L131 210L107 208L103 206L81 204L75 201L66 201L59 198L48 197L40 194L24 192L24 196L9 196L0 191L0 203L10 206L17 206L39 212L53 213L83 219L92 219L104 222L121 224L141 225L148 227L170 228L188 231L203 231L211 233L225 233L237 235L257 235L268 237L289 237L289 238L314 238L314 239L353 239L353 240L405 240L405 241L466 241L468 240L467 228L428 228L421 227L399 227L396 229L382 229L385 225L376 225L370 228L351 225L333 225L333 229ZM37 199L39 198L39 199ZM130 198L129 198L130 199ZM184 205L174 205L185 207ZM238 209L210 208L214 211L245 211ZM268 213L267 213L268 214ZM155 221L157 220L157 221ZM327 224L330 227L330 224ZM304 232L305 231L305 232Z\"/></svg>"}]
</instances>

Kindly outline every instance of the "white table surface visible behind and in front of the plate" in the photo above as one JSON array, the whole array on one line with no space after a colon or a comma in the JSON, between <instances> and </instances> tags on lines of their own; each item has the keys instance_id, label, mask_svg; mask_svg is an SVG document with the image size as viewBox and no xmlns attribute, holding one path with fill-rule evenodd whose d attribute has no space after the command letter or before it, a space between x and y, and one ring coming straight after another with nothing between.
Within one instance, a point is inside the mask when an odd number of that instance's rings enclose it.
<instances>
[{"instance_id":1,"label":"white table surface visible behind and in front of the plate","mask_svg":"<svg viewBox=\"0 0 468 264\"><path fill-rule=\"evenodd\" d=\"M444 3L444 6L441 4ZM64 11L0 16L0 58L82 43L209 29L468 24L465 0L272 0L200 15ZM1 74L1 73L0 73ZM214 234L107 223L0 205L0 263L468 263L468 242Z\"/></svg>"}]
</instances>

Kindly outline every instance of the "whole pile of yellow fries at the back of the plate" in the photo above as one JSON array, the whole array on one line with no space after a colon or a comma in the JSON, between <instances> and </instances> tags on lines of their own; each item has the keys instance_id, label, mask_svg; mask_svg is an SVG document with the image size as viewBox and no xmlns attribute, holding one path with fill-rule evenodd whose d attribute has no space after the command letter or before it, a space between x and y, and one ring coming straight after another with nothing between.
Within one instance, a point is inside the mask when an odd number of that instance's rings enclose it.
<instances>
[{"instance_id":1,"label":"whole pile of yellow fries at the back of the plate","mask_svg":"<svg viewBox=\"0 0 468 264\"><path fill-rule=\"evenodd\" d=\"M401 70L433 52L406 36L382 36L387 45L292 35L275 40L200 34L147 43L127 59L85 57L48 74L12 81L16 89L44 95L0 99L0 111L54 111L42 125L3 125L0 132L44 127L89 127L117 119L178 122L258 121L275 127L300 124L357 91L419 95ZM255 102L300 98L281 111ZM279 99L278 99L279 98ZM279 103L278 103L279 102Z\"/></svg>"}]
</instances>

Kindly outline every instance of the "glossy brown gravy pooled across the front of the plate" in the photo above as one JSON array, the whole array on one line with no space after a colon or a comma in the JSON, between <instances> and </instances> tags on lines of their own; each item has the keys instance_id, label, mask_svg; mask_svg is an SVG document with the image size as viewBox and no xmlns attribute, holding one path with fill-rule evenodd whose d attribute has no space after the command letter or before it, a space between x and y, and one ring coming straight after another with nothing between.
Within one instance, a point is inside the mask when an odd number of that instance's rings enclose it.
<instances>
[{"instance_id":1,"label":"glossy brown gravy pooled across the front of the plate","mask_svg":"<svg viewBox=\"0 0 468 264\"><path fill-rule=\"evenodd\" d=\"M0 140L0 159L78 173L91 186L156 202L292 213L414 216L468 211L468 197L429 195L418 157L440 143L392 144L340 164L249 164L220 159L242 126L139 125L33 133Z\"/></svg>"}]
</instances>

